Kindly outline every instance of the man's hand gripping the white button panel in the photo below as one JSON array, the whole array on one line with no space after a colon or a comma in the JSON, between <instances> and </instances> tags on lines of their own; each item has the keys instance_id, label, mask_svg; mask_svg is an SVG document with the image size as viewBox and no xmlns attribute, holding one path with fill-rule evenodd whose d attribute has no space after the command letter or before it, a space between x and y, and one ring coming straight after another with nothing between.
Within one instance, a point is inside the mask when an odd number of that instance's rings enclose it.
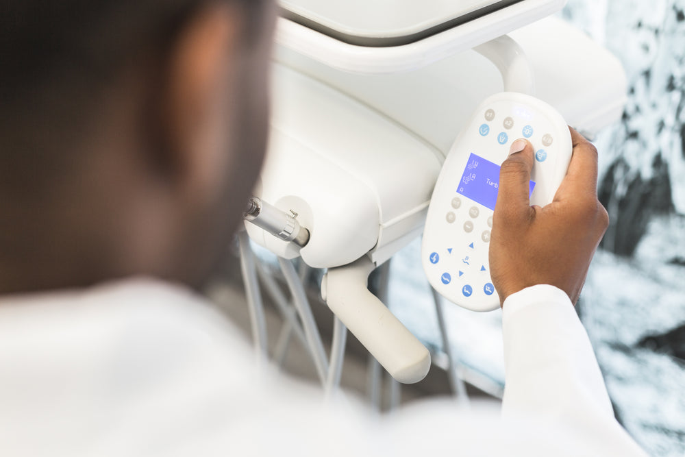
<instances>
[{"instance_id":1,"label":"man's hand gripping the white button panel","mask_svg":"<svg viewBox=\"0 0 685 457\"><path fill-rule=\"evenodd\" d=\"M515 152L501 166L490 237L490 273L501 304L536 284L560 288L574 305L578 300L609 217L597 200L597 149L574 129L571 140L569 171L544 208L530 206L529 142L514 141Z\"/></svg>"}]
</instances>

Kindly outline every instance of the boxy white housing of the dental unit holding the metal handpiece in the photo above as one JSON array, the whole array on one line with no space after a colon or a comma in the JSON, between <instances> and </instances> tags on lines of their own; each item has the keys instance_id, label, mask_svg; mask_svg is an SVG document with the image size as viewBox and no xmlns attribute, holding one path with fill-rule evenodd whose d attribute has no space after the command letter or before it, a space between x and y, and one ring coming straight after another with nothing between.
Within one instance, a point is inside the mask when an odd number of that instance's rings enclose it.
<instances>
[{"instance_id":1,"label":"boxy white housing of the dental unit holding the metal handpiece","mask_svg":"<svg viewBox=\"0 0 685 457\"><path fill-rule=\"evenodd\" d=\"M246 223L251 238L279 256L299 254L311 267L325 268L419 234L440 152L315 79L285 66L274 71L271 139L256 192L297 212L311 236L299 250Z\"/></svg>"}]
</instances>

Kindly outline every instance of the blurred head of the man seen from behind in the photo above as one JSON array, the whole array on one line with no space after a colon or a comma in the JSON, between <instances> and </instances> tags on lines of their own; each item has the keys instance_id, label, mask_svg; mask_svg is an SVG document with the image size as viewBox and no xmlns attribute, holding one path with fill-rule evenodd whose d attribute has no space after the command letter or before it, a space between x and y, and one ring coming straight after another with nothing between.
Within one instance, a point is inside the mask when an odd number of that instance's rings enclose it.
<instances>
[{"instance_id":1,"label":"blurred head of the man seen from behind","mask_svg":"<svg viewBox=\"0 0 685 457\"><path fill-rule=\"evenodd\" d=\"M271 1L0 3L0 293L199 284L264 155Z\"/></svg>"}]
</instances>

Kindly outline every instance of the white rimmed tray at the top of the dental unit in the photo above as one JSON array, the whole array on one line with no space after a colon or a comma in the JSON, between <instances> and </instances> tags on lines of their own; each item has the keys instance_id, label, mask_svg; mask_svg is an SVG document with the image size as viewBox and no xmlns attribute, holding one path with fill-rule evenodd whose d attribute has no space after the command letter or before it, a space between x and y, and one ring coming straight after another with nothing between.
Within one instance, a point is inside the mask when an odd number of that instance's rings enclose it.
<instances>
[{"instance_id":1,"label":"white rimmed tray at the top of the dental unit","mask_svg":"<svg viewBox=\"0 0 685 457\"><path fill-rule=\"evenodd\" d=\"M422 29L430 29L440 22L449 21L449 18L465 14L473 7L466 5L466 8L462 8L464 1L432 1L432 4L427 5L427 2L408 0L393 2L391 8L388 8L388 2L365 0L356 0L354 3L359 4L357 8L347 1L284 3L287 8L309 15L314 22L338 34L369 40L416 34ZM286 18L279 18L276 42L343 71L377 74L414 71L554 14L565 4L566 0L519 1L427 38L388 47L352 45L345 42L345 38L338 40L329 36L335 33L324 34Z\"/></svg>"}]
</instances>

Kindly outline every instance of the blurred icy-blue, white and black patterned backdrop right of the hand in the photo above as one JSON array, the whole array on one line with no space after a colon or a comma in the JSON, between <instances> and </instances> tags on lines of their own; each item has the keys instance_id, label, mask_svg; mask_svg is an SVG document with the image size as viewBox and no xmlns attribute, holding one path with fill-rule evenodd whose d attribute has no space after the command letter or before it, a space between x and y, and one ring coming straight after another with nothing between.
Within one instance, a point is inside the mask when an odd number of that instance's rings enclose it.
<instances>
[{"instance_id":1,"label":"blurred icy-blue, white and black patterned backdrop right of the hand","mask_svg":"<svg viewBox=\"0 0 685 457\"><path fill-rule=\"evenodd\" d=\"M629 81L621 123L597 138L612 224L581 317L619 420L651 454L682 455L685 1L571 1L564 17L610 49Z\"/></svg>"}]
</instances>

